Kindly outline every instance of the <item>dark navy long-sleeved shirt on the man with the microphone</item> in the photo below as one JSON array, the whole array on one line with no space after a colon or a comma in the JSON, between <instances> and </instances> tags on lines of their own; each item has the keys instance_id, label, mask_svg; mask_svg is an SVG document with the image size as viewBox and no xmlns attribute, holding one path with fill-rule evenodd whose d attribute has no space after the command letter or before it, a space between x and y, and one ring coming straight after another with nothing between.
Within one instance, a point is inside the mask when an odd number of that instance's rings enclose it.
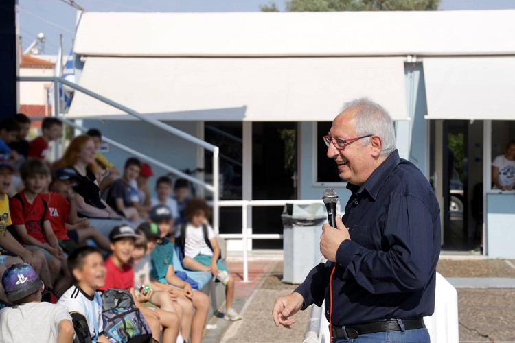
<instances>
[{"instance_id":1,"label":"dark navy long-sleeved shirt on the man with the microphone","mask_svg":"<svg viewBox=\"0 0 515 343\"><path fill-rule=\"evenodd\" d=\"M394 151L352 196L343 224L350 240L336 252L332 278L332 324L431 316L440 253L439 206L429 182ZM295 292L306 309L321 306L329 320L330 275L335 263L320 263Z\"/></svg>"}]
</instances>

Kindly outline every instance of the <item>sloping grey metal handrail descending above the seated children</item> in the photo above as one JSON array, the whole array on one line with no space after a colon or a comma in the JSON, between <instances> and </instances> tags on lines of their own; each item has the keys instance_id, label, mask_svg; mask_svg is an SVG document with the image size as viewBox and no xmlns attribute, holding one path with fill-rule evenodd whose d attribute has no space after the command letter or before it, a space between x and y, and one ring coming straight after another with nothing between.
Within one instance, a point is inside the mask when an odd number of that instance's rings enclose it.
<instances>
[{"instance_id":1,"label":"sloping grey metal handrail descending above the seated children","mask_svg":"<svg viewBox=\"0 0 515 343\"><path fill-rule=\"evenodd\" d=\"M119 110L124 111L128 115L131 115L133 117L136 117L140 119L141 121L146 121L147 123L150 123L153 126L157 126L158 128L161 128L167 132L170 132L171 134L174 134L178 137L181 137L182 139L185 139L186 141L190 141L196 145L200 145L204 149L207 149L211 152L213 152L213 185L209 185L206 182L203 182L202 180L198 180L197 178L193 178L192 176L189 176L187 174L182 173L181 171L175 169L174 167L170 167L169 165L165 165L165 163L161 163L155 158L150 158L144 154L141 154L140 152L137 152L136 150L131 149L130 147L126 147L126 145L123 145L121 143L117 143L116 141L113 141L112 139L108 139L107 137L103 137L103 139L110 143L115 145L121 150L124 150L126 152L129 152L130 154L134 154L135 156L138 156L139 158L143 159L144 161L147 161L149 163L153 163L155 165L159 165L159 167L162 167L163 169L166 169L170 171L173 174L176 174L177 176L181 176L183 178L186 178L187 180L190 180L197 185L201 185L208 191L211 191L213 194L213 226L216 233L218 233L219 226L220 226L220 211L219 211L219 204L220 204L220 178L218 177L219 174L219 149L216 145L209 144L202 139L198 139L197 137L193 136L192 134L188 134L186 132L183 132L179 129L174 128L173 126L170 126L168 124L165 124L157 119L154 119L152 117L148 117L146 115L142 115L141 113L136 112L135 110L132 110L126 106L123 106L122 104L119 104L117 102L113 102L111 99L108 99L106 97L103 97L102 95L95 93L93 91L90 91L87 88L84 88L82 86L79 86L78 84L74 84L73 82L69 82L68 80L65 80L65 78L58 78L56 76L47 77L47 76L19 76L18 81L24 82L52 82L54 84L54 104L57 104L57 106L54 106L54 115L56 117L59 117L62 119L63 122L67 123L69 126L73 126L74 128L77 128L78 130L87 130L87 128L84 128L82 126L78 126L73 121L69 121L66 119L65 115L61 115L59 113L59 84L65 84L76 91L80 91L81 93L84 93L86 95L89 95L90 97L94 97L95 99L98 99L101 102L104 102L105 104L108 104L110 106L113 106L114 108L118 108Z\"/></svg>"}]
</instances>

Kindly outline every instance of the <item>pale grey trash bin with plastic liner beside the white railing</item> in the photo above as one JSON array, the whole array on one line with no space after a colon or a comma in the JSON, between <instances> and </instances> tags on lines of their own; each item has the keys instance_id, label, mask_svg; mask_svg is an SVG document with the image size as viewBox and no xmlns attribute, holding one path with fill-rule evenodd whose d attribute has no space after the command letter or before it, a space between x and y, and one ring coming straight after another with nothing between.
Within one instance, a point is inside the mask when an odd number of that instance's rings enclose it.
<instances>
[{"instance_id":1,"label":"pale grey trash bin with plastic liner beside the white railing","mask_svg":"<svg viewBox=\"0 0 515 343\"><path fill-rule=\"evenodd\" d=\"M301 283L320 261L320 235L327 222L323 204L286 204L282 217L284 283Z\"/></svg>"}]
</instances>

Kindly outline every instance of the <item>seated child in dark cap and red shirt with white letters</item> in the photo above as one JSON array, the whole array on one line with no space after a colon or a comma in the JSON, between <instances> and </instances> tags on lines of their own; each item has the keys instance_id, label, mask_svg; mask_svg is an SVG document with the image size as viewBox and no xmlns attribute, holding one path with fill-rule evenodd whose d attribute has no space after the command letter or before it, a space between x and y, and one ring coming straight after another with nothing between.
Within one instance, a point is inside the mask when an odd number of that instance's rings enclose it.
<instances>
[{"instance_id":1,"label":"seated child in dark cap and red shirt with white letters","mask_svg":"<svg viewBox=\"0 0 515 343\"><path fill-rule=\"evenodd\" d=\"M109 251L109 240L91 227L87 218L77 220L76 193L73 191L73 185L78 180L77 171L60 168L54 174L54 182L50 175L47 176L41 197L48 204L50 224L62 250L70 253L78 246L87 244L88 239L93 239L99 248Z\"/></svg>"}]
</instances>

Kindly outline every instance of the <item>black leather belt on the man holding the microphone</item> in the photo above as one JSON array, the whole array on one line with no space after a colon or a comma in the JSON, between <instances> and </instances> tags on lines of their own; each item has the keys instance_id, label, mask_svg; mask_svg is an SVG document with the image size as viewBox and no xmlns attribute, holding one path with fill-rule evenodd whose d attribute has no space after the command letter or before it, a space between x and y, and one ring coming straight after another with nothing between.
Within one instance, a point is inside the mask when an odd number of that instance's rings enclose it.
<instances>
[{"instance_id":1,"label":"black leather belt on the man holding the microphone","mask_svg":"<svg viewBox=\"0 0 515 343\"><path fill-rule=\"evenodd\" d=\"M423 327L426 327L423 318L403 319L402 324L404 325L404 330L422 329ZM365 333L401 331L401 327L395 319L349 325L345 327L345 332L343 331L343 327L335 327L334 325L330 329L332 331L332 337L336 339L357 338L358 335L363 335ZM345 333L347 333L347 335L345 335Z\"/></svg>"}]
</instances>

